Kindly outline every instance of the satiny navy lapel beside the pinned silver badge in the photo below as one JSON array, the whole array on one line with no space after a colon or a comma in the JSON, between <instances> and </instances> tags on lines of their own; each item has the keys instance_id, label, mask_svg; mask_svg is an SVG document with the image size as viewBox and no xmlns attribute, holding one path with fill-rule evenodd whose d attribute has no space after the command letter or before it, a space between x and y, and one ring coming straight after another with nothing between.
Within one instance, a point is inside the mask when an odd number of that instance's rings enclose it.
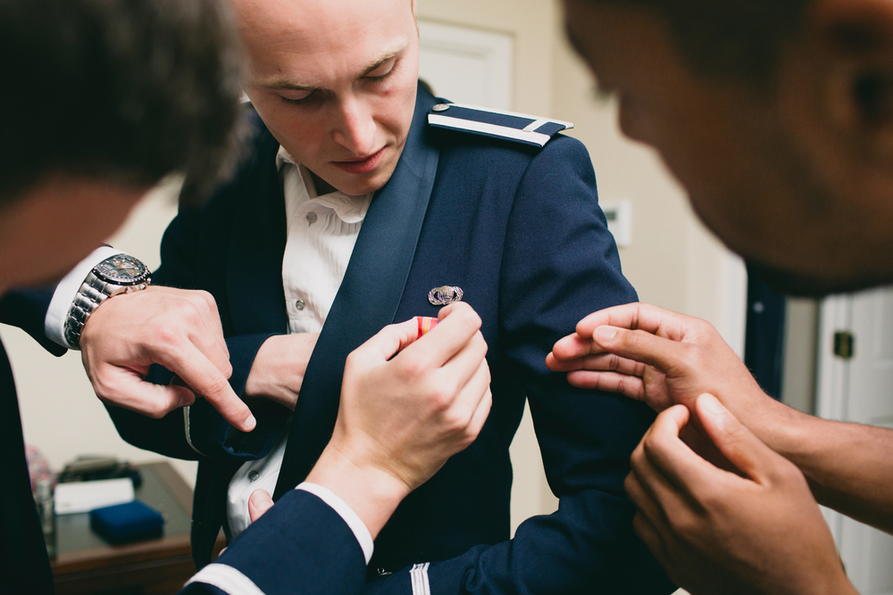
<instances>
[{"instance_id":1,"label":"satiny navy lapel beside the pinned silver badge","mask_svg":"<svg viewBox=\"0 0 893 595\"><path fill-rule=\"evenodd\" d=\"M439 152L426 140L425 123L434 103L420 87L404 152L363 219L344 281L307 366L276 499L304 480L329 443L347 354L394 322L437 174Z\"/></svg>"}]
</instances>

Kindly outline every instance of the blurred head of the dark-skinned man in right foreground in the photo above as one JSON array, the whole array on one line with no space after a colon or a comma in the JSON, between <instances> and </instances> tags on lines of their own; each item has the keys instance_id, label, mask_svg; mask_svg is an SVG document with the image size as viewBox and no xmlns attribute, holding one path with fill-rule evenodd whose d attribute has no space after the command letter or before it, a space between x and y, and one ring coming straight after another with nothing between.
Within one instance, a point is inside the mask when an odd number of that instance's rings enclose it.
<instances>
[{"instance_id":1,"label":"blurred head of the dark-skinned man in right foreground","mask_svg":"<svg viewBox=\"0 0 893 595\"><path fill-rule=\"evenodd\" d=\"M893 282L893 3L564 0L623 131L797 293Z\"/></svg>"}]
</instances>

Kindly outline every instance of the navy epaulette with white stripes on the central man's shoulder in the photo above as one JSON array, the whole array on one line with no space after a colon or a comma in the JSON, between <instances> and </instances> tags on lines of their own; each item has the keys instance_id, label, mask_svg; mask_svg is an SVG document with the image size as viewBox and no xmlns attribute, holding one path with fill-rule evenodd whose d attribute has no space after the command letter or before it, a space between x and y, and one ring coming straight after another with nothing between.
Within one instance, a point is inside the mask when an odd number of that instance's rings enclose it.
<instances>
[{"instance_id":1,"label":"navy epaulette with white stripes on the central man's shoulder","mask_svg":"<svg viewBox=\"0 0 893 595\"><path fill-rule=\"evenodd\" d=\"M539 147L546 145L562 130L573 128L571 122L465 103L438 103L428 113L428 124L434 128L463 130L475 135L507 138Z\"/></svg>"}]
</instances>

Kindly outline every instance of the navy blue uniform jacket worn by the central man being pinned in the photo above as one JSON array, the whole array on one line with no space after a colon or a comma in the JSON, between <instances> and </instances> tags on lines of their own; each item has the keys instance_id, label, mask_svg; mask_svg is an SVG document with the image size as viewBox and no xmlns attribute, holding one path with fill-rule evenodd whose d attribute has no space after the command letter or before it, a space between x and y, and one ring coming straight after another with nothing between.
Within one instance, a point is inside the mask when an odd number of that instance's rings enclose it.
<instances>
[{"instance_id":1,"label":"navy blue uniform jacket worn by the central man being pinned","mask_svg":"<svg viewBox=\"0 0 893 595\"><path fill-rule=\"evenodd\" d=\"M413 492L382 530L367 589L411 593L411 566L430 562L436 593L671 592L632 533L633 508L622 488L653 414L622 396L574 389L544 362L580 318L637 299L598 208L588 153L561 135L540 149L430 128L435 103L419 89L404 153L363 221L306 370L274 497L305 478L329 441L346 355L382 326L437 316L430 289L457 285L483 320L493 407L478 440ZM250 158L209 202L180 209L153 280L213 293L237 393L263 341L288 332L279 145L256 115L253 121ZM510 540L508 447L525 399L560 506L524 522ZM127 441L201 461L193 530L199 565L210 561L225 525L234 470L264 456L287 431L285 409L252 407L258 426L250 434L201 400L185 432L179 411L152 420L110 408Z\"/></svg>"}]
</instances>

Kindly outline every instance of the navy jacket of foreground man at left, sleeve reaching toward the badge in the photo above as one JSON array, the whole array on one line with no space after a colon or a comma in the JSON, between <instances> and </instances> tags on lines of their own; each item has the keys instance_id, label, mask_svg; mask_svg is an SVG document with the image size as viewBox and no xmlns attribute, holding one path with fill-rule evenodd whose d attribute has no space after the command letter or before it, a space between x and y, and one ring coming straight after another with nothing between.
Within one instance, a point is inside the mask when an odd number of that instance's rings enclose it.
<instances>
[{"instance_id":1,"label":"navy jacket of foreground man at left, sleeve reaching toward the badge","mask_svg":"<svg viewBox=\"0 0 893 595\"><path fill-rule=\"evenodd\" d=\"M28 328L38 335L38 326L42 325L36 323L40 317L31 305L39 303L40 296L46 294L8 294L0 301L0 321ZM4 481L0 483L0 593L51 595L53 574L31 495L13 373L2 343L0 448L6 461ZM279 506L248 527L219 562L236 569L241 579L234 581L229 574L223 574L211 584L191 583L182 592L246 592L239 591L238 586L247 578L270 594L359 593L366 578L363 550L354 533L322 500L301 491L288 493Z\"/></svg>"}]
</instances>

